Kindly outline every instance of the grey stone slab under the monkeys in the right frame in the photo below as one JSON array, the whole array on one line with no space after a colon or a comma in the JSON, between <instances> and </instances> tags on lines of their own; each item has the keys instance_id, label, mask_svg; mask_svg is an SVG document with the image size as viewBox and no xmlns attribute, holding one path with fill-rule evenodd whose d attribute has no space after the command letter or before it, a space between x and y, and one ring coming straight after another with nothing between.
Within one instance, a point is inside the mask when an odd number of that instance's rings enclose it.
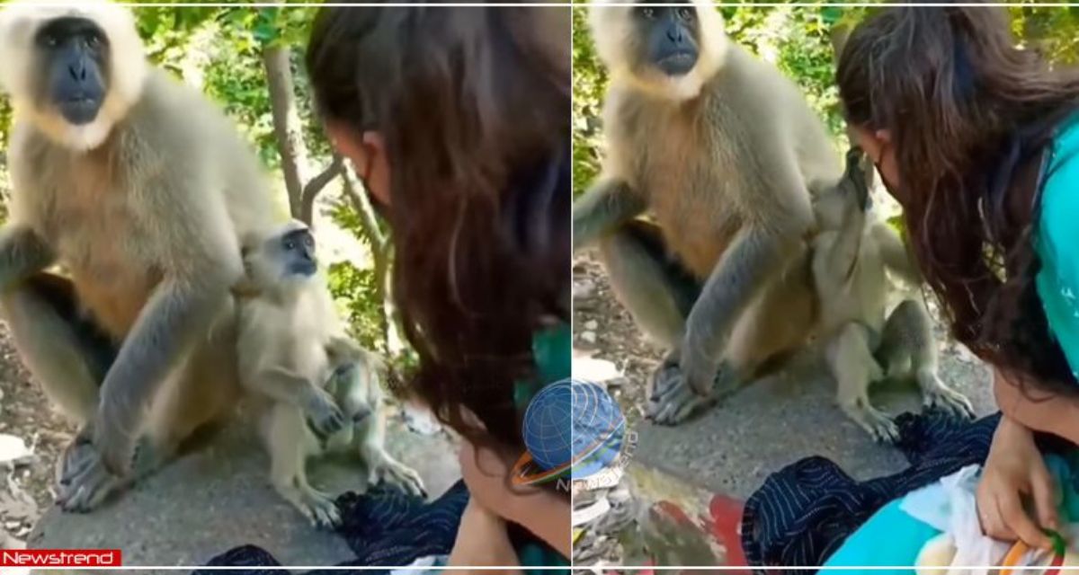
<instances>
[{"instance_id":1,"label":"grey stone slab under the monkeys in the right frame","mask_svg":"<svg viewBox=\"0 0 1079 575\"><path fill-rule=\"evenodd\" d=\"M817 366L755 382L724 403L678 427L637 425L639 463L712 492L741 499L796 460L823 455L856 479L905 467L898 450L875 443L835 405L835 384ZM797 373L796 371L802 371ZM946 357L945 381L971 399L979 415L996 411L984 367ZM918 411L911 387L874 394L888 413Z\"/></svg>"}]
</instances>

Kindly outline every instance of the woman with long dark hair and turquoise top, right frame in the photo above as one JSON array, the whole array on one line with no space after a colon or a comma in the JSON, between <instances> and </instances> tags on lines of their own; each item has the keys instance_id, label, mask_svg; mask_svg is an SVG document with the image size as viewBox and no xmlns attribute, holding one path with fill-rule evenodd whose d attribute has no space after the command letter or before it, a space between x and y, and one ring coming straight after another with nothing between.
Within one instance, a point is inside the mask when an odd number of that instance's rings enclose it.
<instances>
[{"instance_id":1,"label":"woman with long dark hair and turquoise top, right frame","mask_svg":"<svg viewBox=\"0 0 1079 575\"><path fill-rule=\"evenodd\" d=\"M1067 485L1035 435L1079 443L1079 70L1017 47L1003 9L889 6L852 31L836 76L952 333L994 369L982 529L1048 548ZM837 555L873 557L851 553Z\"/></svg>"}]
</instances>

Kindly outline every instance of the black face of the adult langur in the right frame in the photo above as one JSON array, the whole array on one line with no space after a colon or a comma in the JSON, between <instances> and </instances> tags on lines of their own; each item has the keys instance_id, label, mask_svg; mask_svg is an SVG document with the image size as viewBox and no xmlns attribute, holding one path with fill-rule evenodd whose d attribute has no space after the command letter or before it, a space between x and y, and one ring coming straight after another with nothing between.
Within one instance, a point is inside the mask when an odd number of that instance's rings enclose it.
<instances>
[{"instance_id":1,"label":"black face of the adult langur in the right frame","mask_svg":"<svg viewBox=\"0 0 1079 575\"><path fill-rule=\"evenodd\" d=\"M638 5L633 20L646 63L670 77L687 74L697 65L700 28L692 4Z\"/></svg>"}]
</instances>

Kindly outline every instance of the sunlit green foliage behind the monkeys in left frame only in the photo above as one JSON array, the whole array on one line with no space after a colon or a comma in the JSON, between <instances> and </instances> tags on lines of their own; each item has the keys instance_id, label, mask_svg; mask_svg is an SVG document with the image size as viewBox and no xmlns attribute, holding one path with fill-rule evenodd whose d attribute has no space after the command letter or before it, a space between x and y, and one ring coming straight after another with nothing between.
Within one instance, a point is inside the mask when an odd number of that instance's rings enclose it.
<instances>
[{"instance_id":1,"label":"sunlit green foliage behind the monkeys in left frame only","mask_svg":"<svg viewBox=\"0 0 1079 575\"><path fill-rule=\"evenodd\" d=\"M0 4L4 3L0 0ZM137 25L150 59L220 104L257 150L267 169L275 176L275 200L288 209L288 193L282 178L285 161L302 162L305 172L317 172L332 163L330 148L311 107L311 93L302 55L315 9L310 6L135 6ZM271 68L267 54L283 50L291 76L289 107L299 120L305 158L290 158L275 134L274 102L269 90ZM10 194L6 170L8 139L12 122L11 102L0 96L0 215ZM291 154L295 155L295 154ZM355 180L353 180L355 184ZM378 285L373 251L384 247L382 222L374 222L374 242L363 218L366 194L345 193L343 172L319 195L313 216L319 250L328 256L331 290L363 343L408 361L409 353L387 326L386 290ZM386 250L383 256L387 256Z\"/></svg>"}]
</instances>

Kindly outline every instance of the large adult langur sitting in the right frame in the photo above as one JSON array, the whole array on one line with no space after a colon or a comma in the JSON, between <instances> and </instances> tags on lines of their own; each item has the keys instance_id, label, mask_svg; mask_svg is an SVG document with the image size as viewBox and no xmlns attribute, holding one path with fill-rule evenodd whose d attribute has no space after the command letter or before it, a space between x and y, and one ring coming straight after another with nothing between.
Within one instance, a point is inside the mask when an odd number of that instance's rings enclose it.
<instances>
[{"instance_id":1,"label":"large adult langur sitting in the right frame","mask_svg":"<svg viewBox=\"0 0 1079 575\"><path fill-rule=\"evenodd\" d=\"M670 350L646 413L677 424L805 342L810 190L842 165L798 88L730 42L710 2L604 2L591 27L607 155L574 247L601 241L615 295Z\"/></svg>"}]
</instances>

